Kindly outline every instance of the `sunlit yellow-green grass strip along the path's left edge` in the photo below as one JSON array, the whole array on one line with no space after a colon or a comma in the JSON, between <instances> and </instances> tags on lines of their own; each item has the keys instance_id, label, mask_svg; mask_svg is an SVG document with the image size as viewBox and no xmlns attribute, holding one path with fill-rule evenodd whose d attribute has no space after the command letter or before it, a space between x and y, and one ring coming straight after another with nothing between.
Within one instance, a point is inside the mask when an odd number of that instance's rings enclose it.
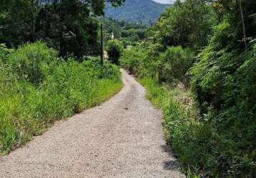
<instances>
[{"instance_id":1,"label":"sunlit yellow-green grass strip along the path's left edge","mask_svg":"<svg viewBox=\"0 0 256 178\"><path fill-rule=\"evenodd\" d=\"M120 80L96 80L94 90L77 93L77 103L69 103L61 94L30 90L26 94L10 91L0 98L0 150L9 152L40 135L55 120L82 112L86 108L99 105L122 88ZM87 85L87 84L85 84ZM75 94L74 94L75 95Z\"/></svg>"}]
</instances>

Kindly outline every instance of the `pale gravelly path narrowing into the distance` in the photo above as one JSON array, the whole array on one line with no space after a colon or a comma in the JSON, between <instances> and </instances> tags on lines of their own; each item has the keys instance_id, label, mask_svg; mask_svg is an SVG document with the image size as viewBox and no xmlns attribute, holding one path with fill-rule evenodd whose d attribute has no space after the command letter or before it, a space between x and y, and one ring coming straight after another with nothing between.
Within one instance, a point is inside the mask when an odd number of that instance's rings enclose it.
<instances>
[{"instance_id":1,"label":"pale gravelly path narrowing into the distance","mask_svg":"<svg viewBox=\"0 0 256 178\"><path fill-rule=\"evenodd\" d=\"M107 103L58 123L0 158L0 177L184 177L165 146L162 114L122 70Z\"/></svg>"}]
</instances>

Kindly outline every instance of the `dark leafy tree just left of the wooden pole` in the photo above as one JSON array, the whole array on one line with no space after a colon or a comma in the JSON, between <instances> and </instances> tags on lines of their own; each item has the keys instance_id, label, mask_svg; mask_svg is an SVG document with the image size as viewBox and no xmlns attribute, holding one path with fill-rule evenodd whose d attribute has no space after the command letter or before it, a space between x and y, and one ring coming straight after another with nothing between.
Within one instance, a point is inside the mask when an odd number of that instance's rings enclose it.
<instances>
[{"instance_id":1,"label":"dark leafy tree just left of the wooden pole","mask_svg":"<svg viewBox=\"0 0 256 178\"><path fill-rule=\"evenodd\" d=\"M97 21L79 1L46 4L36 20L37 38L58 49L59 56L97 52ZM96 48L96 49L95 49Z\"/></svg>"}]
</instances>

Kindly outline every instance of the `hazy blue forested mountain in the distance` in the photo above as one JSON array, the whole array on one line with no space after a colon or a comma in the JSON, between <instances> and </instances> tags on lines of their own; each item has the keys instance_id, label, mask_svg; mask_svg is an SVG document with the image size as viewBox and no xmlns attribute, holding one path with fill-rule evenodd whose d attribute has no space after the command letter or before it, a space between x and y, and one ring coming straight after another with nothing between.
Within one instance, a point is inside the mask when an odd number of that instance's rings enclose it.
<instances>
[{"instance_id":1,"label":"hazy blue forested mountain in the distance","mask_svg":"<svg viewBox=\"0 0 256 178\"><path fill-rule=\"evenodd\" d=\"M131 23L142 21L143 24L155 23L162 11L170 4L159 4L152 0L126 0L124 5L117 8L107 4L105 16L112 19L124 20Z\"/></svg>"}]
</instances>

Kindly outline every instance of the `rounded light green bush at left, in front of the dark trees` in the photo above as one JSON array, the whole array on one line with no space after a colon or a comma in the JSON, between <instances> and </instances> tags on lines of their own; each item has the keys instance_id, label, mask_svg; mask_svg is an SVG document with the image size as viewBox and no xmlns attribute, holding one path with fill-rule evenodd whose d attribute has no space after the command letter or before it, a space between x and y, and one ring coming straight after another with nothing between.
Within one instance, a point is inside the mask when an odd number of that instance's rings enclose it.
<instances>
[{"instance_id":1,"label":"rounded light green bush at left, in front of the dark trees","mask_svg":"<svg viewBox=\"0 0 256 178\"><path fill-rule=\"evenodd\" d=\"M56 51L36 42L20 46L9 56L7 63L19 79L39 85L49 73L49 63L56 61L56 58Z\"/></svg>"}]
</instances>

